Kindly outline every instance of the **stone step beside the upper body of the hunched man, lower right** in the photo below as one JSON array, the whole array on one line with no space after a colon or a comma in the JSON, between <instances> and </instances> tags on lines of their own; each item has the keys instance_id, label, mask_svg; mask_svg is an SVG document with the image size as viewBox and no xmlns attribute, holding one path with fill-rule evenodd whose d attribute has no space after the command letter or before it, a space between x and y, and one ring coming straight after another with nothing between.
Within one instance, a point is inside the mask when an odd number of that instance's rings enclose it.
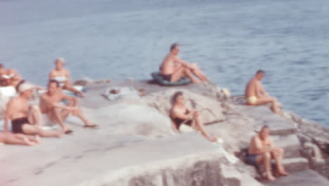
<instances>
[{"instance_id":1,"label":"stone step beside the upper body of the hunched man, lower right","mask_svg":"<svg viewBox=\"0 0 329 186\"><path fill-rule=\"evenodd\" d=\"M277 147L282 147L284 150L284 158L299 158L301 157L301 144L297 135L275 135L272 136L273 142Z\"/></svg>"}]
</instances>

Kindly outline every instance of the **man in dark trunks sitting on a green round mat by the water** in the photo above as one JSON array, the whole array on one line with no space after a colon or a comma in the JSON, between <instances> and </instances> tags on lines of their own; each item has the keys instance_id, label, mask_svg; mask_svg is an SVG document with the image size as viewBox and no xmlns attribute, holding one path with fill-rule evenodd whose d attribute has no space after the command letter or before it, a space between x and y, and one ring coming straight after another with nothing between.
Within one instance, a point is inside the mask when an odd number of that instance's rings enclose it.
<instances>
[{"instance_id":1,"label":"man in dark trunks sitting on a green round mat by the water","mask_svg":"<svg viewBox=\"0 0 329 186\"><path fill-rule=\"evenodd\" d=\"M162 77L164 77L164 80L176 82L180 80L181 77L188 77L193 83L200 83L200 80L202 82L209 81L195 63L189 64L188 62L181 60L177 56L178 54L179 45L174 43L170 46L170 53L164 58L160 68L160 73ZM193 75L200 80L197 80Z\"/></svg>"}]
</instances>

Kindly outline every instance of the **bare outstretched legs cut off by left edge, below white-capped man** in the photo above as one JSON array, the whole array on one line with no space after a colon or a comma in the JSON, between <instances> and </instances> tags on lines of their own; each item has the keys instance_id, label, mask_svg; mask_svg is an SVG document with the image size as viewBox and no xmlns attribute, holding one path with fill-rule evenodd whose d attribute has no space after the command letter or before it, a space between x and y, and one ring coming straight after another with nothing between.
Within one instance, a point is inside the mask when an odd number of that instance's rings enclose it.
<instances>
[{"instance_id":1,"label":"bare outstretched legs cut off by left edge, below white-capped man","mask_svg":"<svg viewBox=\"0 0 329 186\"><path fill-rule=\"evenodd\" d=\"M22 134L13 134L11 132L0 133L0 143L4 144L19 144L27 146L35 146L40 144L41 140L38 135L27 136Z\"/></svg>"}]
</instances>

